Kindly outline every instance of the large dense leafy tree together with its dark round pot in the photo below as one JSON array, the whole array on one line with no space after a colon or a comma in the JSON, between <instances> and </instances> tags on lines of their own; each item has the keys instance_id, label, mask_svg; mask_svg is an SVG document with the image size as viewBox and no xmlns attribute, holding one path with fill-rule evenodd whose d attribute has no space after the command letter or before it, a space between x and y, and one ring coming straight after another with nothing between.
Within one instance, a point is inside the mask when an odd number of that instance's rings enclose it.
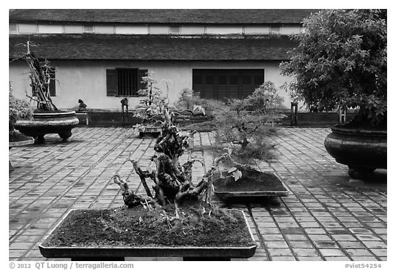
<instances>
[{"instance_id":1,"label":"large dense leafy tree together with its dark round pot","mask_svg":"<svg viewBox=\"0 0 396 270\"><path fill-rule=\"evenodd\" d=\"M282 74L308 109L356 109L351 122L331 128L325 147L349 175L386 168L386 10L326 10L305 19L305 31Z\"/></svg>"}]
</instances>

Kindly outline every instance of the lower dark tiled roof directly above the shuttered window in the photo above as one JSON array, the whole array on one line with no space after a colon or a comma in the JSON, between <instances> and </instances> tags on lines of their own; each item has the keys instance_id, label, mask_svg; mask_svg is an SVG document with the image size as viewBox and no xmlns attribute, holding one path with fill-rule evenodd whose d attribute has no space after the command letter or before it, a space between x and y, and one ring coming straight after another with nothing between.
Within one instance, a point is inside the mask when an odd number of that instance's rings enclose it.
<instances>
[{"instance_id":1,"label":"lower dark tiled roof directly above the shuttered window","mask_svg":"<svg viewBox=\"0 0 396 270\"><path fill-rule=\"evenodd\" d=\"M285 60L296 47L287 36L14 35L10 58L25 52L18 44L28 40L38 45L36 56L49 60Z\"/></svg>"}]
</instances>

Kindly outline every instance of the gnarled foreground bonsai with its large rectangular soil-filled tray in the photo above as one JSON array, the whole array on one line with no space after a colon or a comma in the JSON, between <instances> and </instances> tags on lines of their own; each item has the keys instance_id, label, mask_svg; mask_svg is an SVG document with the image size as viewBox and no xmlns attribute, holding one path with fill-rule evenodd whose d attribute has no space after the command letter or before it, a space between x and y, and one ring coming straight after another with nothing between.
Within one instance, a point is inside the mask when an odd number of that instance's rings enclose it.
<instances>
[{"instance_id":1,"label":"gnarled foreground bonsai with its large rectangular soil-filled tray","mask_svg":"<svg viewBox=\"0 0 396 270\"><path fill-rule=\"evenodd\" d=\"M135 170L146 195L135 193L122 175L113 175L125 206L69 213L39 246L43 256L72 260L124 260L126 256L229 260L254 255L256 244L243 212L213 205L208 174L194 181L192 165L197 160L179 161L189 146L190 135L173 124L172 114L164 106L161 133L151 157L155 168L141 168L132 157L124 162ZM152 188L148 181L153 182Z\"/></svg>"}]
</instances>

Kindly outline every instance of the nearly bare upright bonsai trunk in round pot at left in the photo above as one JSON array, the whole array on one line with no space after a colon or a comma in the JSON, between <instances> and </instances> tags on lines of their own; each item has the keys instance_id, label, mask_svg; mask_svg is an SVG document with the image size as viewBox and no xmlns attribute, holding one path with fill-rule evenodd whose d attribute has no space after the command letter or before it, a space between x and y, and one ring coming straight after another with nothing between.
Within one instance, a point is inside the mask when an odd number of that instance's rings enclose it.
<instances>
[{"instance_id":1,"label":"nearly bare upright bonsai trunk in round pot at left","mask_svg":"<svg viewBox=\"0 0 396 270\"><path fill-rule=\"evenodd\" d=\"M40 62L38 58L31 51L32 44L28 41L28 52L22 58L28 63L30 69L30 86L36 98L30 97L37 102L37 109L42 111L57 111L56 106L52 103L50 97L50 80L51 75L54 74L54 68L50 66L50 61L45 60Z\"/></svg>"}]
</instances>

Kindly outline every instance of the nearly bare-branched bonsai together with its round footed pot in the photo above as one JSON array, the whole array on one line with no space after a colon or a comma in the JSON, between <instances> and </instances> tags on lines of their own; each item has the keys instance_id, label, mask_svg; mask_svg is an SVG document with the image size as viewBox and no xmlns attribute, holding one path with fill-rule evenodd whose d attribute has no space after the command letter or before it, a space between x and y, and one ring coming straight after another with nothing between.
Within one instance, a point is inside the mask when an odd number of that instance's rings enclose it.
<instances>
[{"instance_id":1,"label":"nearly bare-branched bonsai together with its round footed pot","mask_svg":"<svg viewBox=\"0 0 396 270\"><path fill-rule=\"evenodd\" d=\"M21 133L34 137L36 142L44 142L44 135L48 133L58 133L65 141L72 136L72 128L78 125L78 118L75 111L61 111L56 108L50 97L50 80L54 69L50 67L50 62L43 63L30 51L30 41L27 43L28 52L23 54L30 69L30 80L34 97L30 97L37 103L32 120L18 120L15 124Z\"/></svg>"}]
</instances>

